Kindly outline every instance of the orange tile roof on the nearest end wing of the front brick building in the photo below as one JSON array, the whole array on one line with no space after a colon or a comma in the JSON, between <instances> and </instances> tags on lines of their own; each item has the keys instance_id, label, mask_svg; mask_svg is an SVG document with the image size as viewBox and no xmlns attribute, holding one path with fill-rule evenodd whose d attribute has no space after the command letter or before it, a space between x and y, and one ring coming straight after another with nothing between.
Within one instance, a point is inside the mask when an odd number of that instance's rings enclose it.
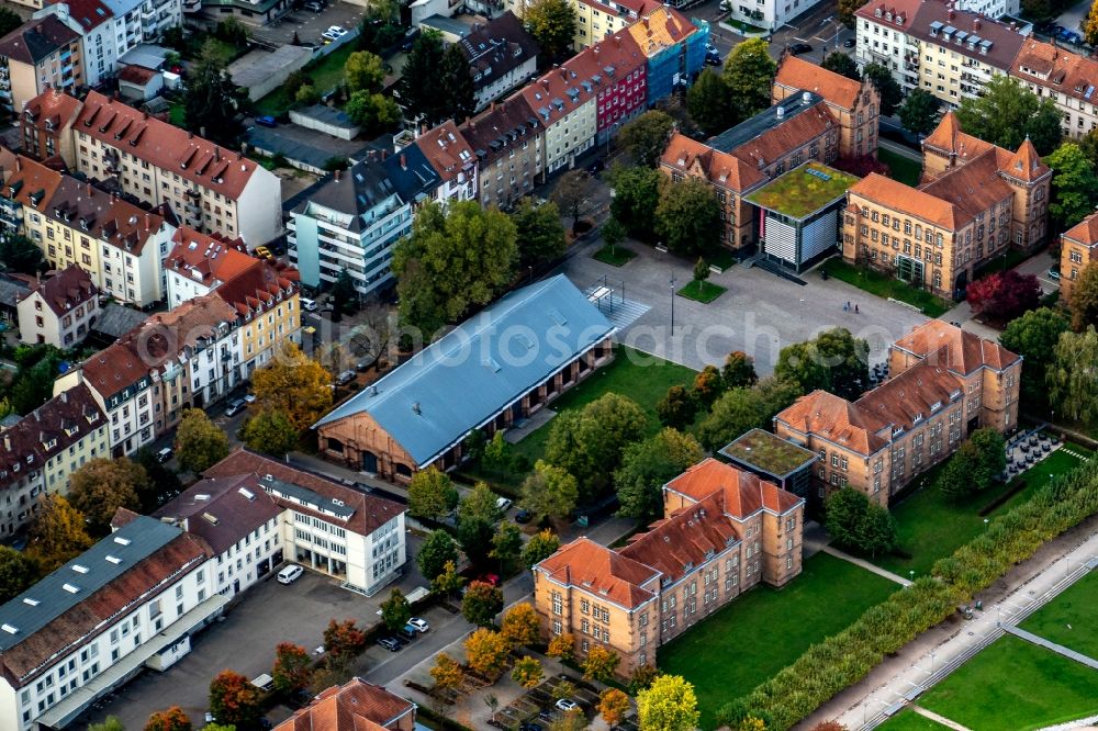
<instances>
[{"instance_id":1,"label":"orange tile roof on the nearest end wing of the front brick building","mask_svg":"<svg viewBox=\"0 0 1098 731\"><path fill-rule=\"evenodd\" d=\"M656 598L652 582L659 573L651 566L600 546L589 538L578 538L535 566L565 586L598 594L624 607L638 607ZM651 588L642 588L650 586Z\"/></svg>"}]
</instances>

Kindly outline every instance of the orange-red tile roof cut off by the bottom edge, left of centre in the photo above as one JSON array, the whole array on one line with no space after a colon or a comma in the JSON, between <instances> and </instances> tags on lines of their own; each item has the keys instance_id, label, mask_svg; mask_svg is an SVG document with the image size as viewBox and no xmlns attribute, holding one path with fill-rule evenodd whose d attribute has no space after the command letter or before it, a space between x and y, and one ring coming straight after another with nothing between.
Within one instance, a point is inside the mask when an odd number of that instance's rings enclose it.
<instances>
[{"instance_id":1,"label":"orange-red tile roof cut off by the bottom edge, left of centre","mask_svg":"<svg viewBox=\"0 0 1098 731\"><path fill-rule=\"evenodd\" d=\"M380 731L395 729L415 705L379 685L354 677L321 691L274 731Z\"/></svg>"}]
</instances>

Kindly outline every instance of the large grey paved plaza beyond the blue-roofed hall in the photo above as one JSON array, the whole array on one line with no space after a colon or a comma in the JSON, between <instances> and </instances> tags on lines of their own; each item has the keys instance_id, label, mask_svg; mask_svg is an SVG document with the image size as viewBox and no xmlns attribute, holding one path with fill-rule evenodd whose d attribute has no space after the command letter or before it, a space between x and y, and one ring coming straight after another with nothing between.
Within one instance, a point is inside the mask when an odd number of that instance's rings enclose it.
<instances>
[{"instance_id":1,"label":"large grey paved plaza beyond the blue-roofed hall","mask_svg":"<svg viewBox=\"0 0 1098 731\"><path fill-rule=\"evenodd\" d=\"M782 348L810 339L821 330L845 327L870 344L870 362L885 360L888 345L928 318L901 304L873 296L817 271L802 274L802 286L758 268L737 265L709 281L727 292L709 304L671 296L671 280L680 290L692 279L693 265L670 254L630 243L638 256L624 267L591 257L600 241L582 245L561 271L586 290L602 277L628 305L648 307L618 333L618 340L647 353L695 370L720 366L732 350L755 361L760 375L773 372ZM845 312L847 302L859 314ZM672 312L674 331L671 330Z\"/></svg>"}]
</instances>

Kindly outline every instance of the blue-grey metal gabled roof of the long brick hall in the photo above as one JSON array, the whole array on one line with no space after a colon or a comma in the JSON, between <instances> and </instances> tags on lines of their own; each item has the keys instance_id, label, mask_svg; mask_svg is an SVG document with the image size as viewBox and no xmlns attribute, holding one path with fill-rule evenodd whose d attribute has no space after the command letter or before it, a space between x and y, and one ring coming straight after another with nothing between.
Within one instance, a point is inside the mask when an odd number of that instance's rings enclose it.
<instances>
[{"instance_id":1,"label":"blue-grey metal gabled roof of the long brick hall","mask_svg":"<svg viewBox=\"0 0 1098 731\"><path fill-rule=\"evenodd\" d=\"M314 427L369 414L423 466L614 329L558 274L485 307Z\"/></svg>"}]
</instances>

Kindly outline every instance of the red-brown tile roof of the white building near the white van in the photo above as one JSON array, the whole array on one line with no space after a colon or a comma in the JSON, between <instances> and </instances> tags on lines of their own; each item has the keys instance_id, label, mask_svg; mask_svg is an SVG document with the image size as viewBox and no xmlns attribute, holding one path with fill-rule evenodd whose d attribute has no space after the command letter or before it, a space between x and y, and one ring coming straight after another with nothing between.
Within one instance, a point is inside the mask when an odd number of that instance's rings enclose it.
<instances>
[{"instance_id":1,"label":"red-brown tile roof of the white building near the white van","mask_svg":"<svg viewBox=\"0 0 1098 731\"><path fill-rule=\"evenodd\" d=\"M343 501L347 508L355 511L344 527L359 536L369 536L406 509L403 505L393 501L360 493L327 477L292 468L284 462L272 460L262 454L257 454L244 447L237 447L228 457L203 472L202 476L226 477L248 473L258 476L269 474L280 482L312 490L321 495L321 497ZM278 495L274 496L274 501L282 507L289 507L299 513L315 516L321 520L330 520L330 516L321 515L307 506L291 503Z\"/></svg>"}]
</instances>

